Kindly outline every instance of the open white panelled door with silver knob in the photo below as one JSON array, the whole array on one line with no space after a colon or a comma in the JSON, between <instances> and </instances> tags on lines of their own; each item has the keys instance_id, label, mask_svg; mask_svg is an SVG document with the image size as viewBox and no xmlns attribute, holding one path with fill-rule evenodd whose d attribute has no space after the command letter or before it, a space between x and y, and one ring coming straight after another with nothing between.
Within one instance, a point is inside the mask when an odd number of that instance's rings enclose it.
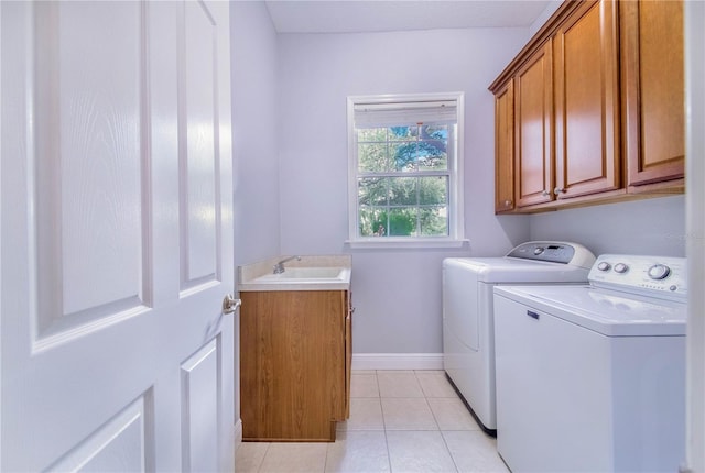
<instances>
[{"instance_id":1,"label":"open white panelled door with silver knob","mask_svg":"<svg viewBox=\"0 0 705 473\"><path fill-rule=\"evenodd\" d=\"M0 3L0 471L227 471L227 2Z\"/></svg>"}]
</instances>

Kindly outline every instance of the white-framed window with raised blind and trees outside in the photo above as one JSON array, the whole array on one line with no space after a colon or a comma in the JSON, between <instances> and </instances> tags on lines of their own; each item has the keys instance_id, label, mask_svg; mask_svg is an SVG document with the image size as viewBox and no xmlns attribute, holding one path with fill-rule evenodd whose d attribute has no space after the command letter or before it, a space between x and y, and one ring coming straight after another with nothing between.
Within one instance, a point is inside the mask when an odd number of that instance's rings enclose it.
<instances>
[{"instance_id":1,"label":"white-framed window with raised blind and trees outside","mask_svg":"<svg viewBox=\"0 0 705 473\"><path fill-rule=\"evenodd\" d=\"M463 243L462 94L348 98L351 245Z\"/></svg>"}]
</instances>

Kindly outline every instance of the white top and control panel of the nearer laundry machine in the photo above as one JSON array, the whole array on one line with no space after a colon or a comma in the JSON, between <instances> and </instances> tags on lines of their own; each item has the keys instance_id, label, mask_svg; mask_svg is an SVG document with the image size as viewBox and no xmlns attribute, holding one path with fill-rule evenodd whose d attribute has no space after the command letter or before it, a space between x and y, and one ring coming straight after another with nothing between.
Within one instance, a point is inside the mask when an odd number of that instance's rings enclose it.
<instances>
[{"instance_id":1,"label":"white top and control panel of the nearer laundry machine","mask_svg":"<svg viewBox=\"0 0 705 473\"><path fill-rule=\"evenodd\" d=\"M684 336L685 258L600 255L589 285L505 286L495 294L609 337Z\"/></svg>"}]
</instances>

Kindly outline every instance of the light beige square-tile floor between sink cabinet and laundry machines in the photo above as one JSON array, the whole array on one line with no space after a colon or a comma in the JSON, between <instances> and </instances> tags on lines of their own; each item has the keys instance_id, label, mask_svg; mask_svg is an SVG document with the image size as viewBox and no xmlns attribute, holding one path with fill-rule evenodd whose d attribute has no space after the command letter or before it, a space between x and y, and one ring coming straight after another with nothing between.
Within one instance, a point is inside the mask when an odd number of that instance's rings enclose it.
<instances>
[{"instance_id":1,"label":"light beige square-tile floor between sink cabinet and laundry machines","mask_svg":"<svg viewBox=\"0 0 705 473\"><path fill-rule=\"evenodd\" d=\"M243 442L238 473L508 472L442 371L356 371L335 443Z\"/></svg>"}]
</instances>

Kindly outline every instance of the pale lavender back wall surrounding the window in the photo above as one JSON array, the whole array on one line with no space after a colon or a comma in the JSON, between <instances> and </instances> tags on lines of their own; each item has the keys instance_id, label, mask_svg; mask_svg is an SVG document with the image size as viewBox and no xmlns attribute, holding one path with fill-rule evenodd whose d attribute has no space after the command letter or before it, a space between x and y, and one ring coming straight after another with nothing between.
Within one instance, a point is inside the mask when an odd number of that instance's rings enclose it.
<instances>
[{"instance_id":1,"label":"pale lavender back wall surrounding the window","mask_svg":"<svg viewBox=\"0 0 705 473\"><path fill-rule=\"evenodd\" d=\"M352 253L356 353L440 353L443 257L502 254L528 238L528 218L494 215L487 90L525 41L527 29L280 35L282 253ZM350 251L346 97L438 91L465 92L469 249Z\"/></svg>"}]
</instances>

